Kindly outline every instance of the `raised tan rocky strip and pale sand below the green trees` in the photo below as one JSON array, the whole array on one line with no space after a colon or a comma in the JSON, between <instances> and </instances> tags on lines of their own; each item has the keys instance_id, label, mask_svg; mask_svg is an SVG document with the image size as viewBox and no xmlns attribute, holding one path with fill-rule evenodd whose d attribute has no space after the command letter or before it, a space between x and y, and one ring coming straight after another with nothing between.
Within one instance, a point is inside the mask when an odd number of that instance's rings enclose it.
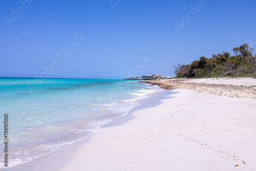
<instances>
[{"instance_id":1,"label":"raised tan rocky strip and pale sand below the green trees","mask_svg":"<svg viewBox=\"0 0 256 171\"><path fill-rule=\"evenodd\" d=\"M221 96L256 98L254 78L171 79L142 82L156 84L163 89L190 89Z\"/></svg>"}]
</instances>

